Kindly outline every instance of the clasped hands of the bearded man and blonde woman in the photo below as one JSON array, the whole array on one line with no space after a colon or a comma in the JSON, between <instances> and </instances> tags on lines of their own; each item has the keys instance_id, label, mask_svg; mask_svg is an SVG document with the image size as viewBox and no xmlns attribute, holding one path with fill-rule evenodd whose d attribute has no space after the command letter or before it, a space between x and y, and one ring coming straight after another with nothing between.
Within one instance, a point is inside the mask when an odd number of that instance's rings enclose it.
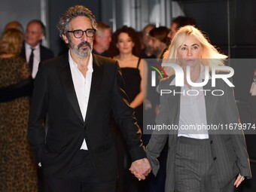
<instances>
[{"instance_id":1,"label":"clasped hands of the bearded man and blonde woman","mask_svg":"<svg viewBox=\"0 0 256 192\"><path fill-rule=\"evenodd\" d=\"M147 158L133 161L130 172L139 179L139 181L144 180L146 176L151 172L151 165Z\"/></svg>"}]
</instances>

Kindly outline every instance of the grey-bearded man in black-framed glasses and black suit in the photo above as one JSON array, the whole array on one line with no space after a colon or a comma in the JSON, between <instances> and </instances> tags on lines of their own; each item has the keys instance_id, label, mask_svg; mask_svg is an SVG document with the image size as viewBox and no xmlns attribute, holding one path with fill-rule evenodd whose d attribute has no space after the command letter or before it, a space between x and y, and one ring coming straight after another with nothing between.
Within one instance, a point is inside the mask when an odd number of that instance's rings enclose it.
<instances>
[{"instance_id":1,"label":"grey-bearded man in black-framed glasses and black suit","mask_svg":"<svg viewBox=\"0 0 256 192\"><path fill-rule=\"evenodd\" d=\"M29 114L29 142L49 191L114 192L117 152L111 110L142 179L151 171L117 61L91 53L96 20L82 5L57 25L69 53L41 62ZM44 118L48 130L44 133Z\"/></svg>"}]
</instances>

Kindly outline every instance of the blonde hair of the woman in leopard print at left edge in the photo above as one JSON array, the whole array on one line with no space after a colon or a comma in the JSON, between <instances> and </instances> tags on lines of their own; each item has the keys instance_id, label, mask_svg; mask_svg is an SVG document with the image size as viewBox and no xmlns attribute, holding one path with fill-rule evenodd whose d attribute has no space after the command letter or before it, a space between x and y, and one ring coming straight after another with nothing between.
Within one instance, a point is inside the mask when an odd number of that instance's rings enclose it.
<instances>
[{"instance_id":1,"label":"blonde hair of the woman in leopard print at left edge","mask_svg":"<svg viewBox=\"0 0 256 192\"><path fill-rule=\"evenodd\" d=\"M18 56L23 45L23 34L17 29L6 30L0 39L0 54Z\"/></svg>"}]
</instances>

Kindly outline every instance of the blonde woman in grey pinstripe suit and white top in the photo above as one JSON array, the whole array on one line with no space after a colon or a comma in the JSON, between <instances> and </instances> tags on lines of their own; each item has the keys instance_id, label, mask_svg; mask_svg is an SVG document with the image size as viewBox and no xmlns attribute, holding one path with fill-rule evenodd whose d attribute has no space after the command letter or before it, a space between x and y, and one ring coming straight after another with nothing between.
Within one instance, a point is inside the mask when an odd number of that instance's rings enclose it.
<instances>
[{"instance_id":1,"label":"blonde woman in grey pinstripe suit and white top","mask_svg":"<svg viewBox=\"0 0 256 192\"><path fill-rule=\"evenodd\" d=\"M183 69L184 77L190 72L190 81L194 83L206 79L206 72L209 73L206 66L210 70L212 66L224 66L226 58L194 26L181 27L164 55L166 62L176 63ZM240 123L232 87L222 79L216 80L216 87L212 87L211 81L203 87L194 87L187 83L187 78L184 86L175 86L174 71L166 70L166 73L169 78L160 81L160 90L172 93L160 96L156 125L178 128L152 134L146 147L152 172L157 175L157 157L168 139L166 192L233 192L245 178L251 178L243 131L186 128ZM224 94L212 95L210 92L215 89L223 90ZM209 94L200 91L191 96L189 90L209 90Z\"/></svg>"}]
</instances>

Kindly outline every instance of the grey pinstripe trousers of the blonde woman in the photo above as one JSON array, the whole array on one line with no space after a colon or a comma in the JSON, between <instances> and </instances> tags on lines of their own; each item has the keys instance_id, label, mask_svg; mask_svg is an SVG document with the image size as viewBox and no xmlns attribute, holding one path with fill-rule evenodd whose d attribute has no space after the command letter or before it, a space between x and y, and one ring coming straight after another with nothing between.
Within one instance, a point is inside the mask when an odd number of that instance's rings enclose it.
<instances>
[{"instance_id":1,"label":"grey pinstripe trousers of the blonde woman","mask_svg":"<svg viewBox=\"0 0 256 192\"><path fill-rule=\"evenodd\" d=\"M234 181L219 186L209 139L178 138L175 192L233 192Z\"/></svg>"}]
</instances>

